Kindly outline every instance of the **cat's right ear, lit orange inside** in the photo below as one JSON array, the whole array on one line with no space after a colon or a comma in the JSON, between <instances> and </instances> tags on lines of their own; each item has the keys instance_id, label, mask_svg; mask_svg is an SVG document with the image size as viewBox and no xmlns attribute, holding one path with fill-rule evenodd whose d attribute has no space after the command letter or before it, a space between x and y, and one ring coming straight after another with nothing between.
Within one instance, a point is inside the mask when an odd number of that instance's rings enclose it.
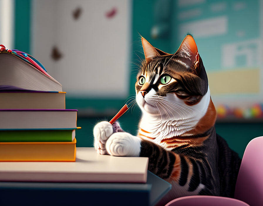
<instances>
[{"instance_id":1,"label":"cat's right ear, lit orange inside","mask_svg":"<svg viewBox=\"0 0 263 206\"><path fill-rule=\"evenodd\" d=\"M179 56L182 56L186 58L186 64L194 69L195 71L198 71L199 68L199 53L197 50L197 46L195 44L195 40L191 35L187 35L183 42L181 43L181 46L179 49L176 51Z\"/></svg>"}]
</instances>

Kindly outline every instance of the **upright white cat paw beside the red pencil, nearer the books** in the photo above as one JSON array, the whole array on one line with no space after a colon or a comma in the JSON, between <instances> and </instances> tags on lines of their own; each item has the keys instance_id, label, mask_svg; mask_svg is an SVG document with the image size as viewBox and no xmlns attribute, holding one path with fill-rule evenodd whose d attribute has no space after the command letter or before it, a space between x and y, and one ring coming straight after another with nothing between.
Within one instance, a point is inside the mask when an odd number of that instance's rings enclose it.
<instances>
[{"instance_id":1,"label":"upright white cat paw beside the red pencil, nearer the books","mask_svg":"<svg viewBox=\"0 0 263 206\"><path fill-rule=\"evenodd\" d=\"M97 123L94 127L94 147L99 154L107 154L105 143L112 133L112 125L107 121Z\"/></svg>"}]
</instances>

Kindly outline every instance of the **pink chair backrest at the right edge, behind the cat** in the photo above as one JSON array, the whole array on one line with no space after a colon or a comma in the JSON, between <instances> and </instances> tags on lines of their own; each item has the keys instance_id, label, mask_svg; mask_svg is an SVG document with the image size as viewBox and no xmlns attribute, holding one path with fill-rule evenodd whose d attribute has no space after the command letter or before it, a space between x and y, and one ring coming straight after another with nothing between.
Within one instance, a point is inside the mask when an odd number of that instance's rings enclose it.
<instances>
[{"instance_id":1,"label":"pink chair backrest at the right edge, behind the cat","mask_svg":"<svg viewBox=\"0 0 263 206\"><path fill-rule=\"evenodd\" d=\"M251 206L263 205L263 136L251 140L237 176L235 198Z\"/></svg>"}]
</instances>

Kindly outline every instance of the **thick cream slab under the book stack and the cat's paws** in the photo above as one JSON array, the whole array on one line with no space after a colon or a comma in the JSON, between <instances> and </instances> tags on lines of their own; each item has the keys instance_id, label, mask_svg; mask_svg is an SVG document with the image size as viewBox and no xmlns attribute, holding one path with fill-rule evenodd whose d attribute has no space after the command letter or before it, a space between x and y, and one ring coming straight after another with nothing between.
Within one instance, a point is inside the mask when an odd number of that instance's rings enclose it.
<instances>
[{"instance_id":1,"label":"thick cream slab under the book stack and the cat's paws","mask_svg":"<svg viewBox=\"0 0 263 206\"><path fill-rule=\"evenodd\" d=\"M0 158L4 155L10 159L14 151L0 147ZM56 156L63 151L52 152ZM146 183L147 168L147 157L114 157L98 154L93 147L77 147L76 162L0 162L0 181Z\"/></svg>"}]
</instances>

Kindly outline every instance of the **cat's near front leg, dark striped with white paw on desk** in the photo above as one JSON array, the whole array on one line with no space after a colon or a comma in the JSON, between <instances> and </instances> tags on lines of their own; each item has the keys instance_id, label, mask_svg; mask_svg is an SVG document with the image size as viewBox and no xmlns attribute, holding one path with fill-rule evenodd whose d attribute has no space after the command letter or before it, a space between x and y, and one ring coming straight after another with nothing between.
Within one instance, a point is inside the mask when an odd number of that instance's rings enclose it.
<instances>
[{"instance_id":1,"label":"cat's near front leg, dark striped with white paw on desk","mask_svg":"<svg viewBox=\"0 0 263 206\"><path fill-rule=\"evenodd\" d=\"M209 166L202 159L167 151L155 143L126 132L112 134L106 142L106 150L113 156L148 157L149 171L172 183L173 198L213 194L203 184L204 178L211 179L211 176L207 172Z\"/></svg>"}]
</instances>

